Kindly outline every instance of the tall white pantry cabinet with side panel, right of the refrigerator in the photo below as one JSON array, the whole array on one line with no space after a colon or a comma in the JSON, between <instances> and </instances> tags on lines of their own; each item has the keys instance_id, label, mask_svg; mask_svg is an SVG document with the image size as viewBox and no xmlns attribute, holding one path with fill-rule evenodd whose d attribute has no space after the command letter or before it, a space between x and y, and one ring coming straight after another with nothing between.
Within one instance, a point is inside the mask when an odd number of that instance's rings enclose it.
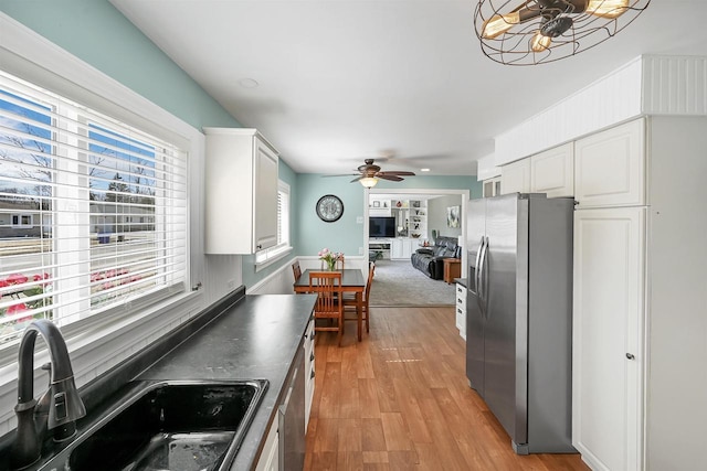
<instances>
[{"instance_id":1,"label":"tall white pantry cabinet with side panel, right of the refrigerator","mask_svg":"<svg viewBox=\"0 0 707 471\"><path fill-rule=\"evenodd\" d=\"M706 130L652 116L576 147L572 437L595 470L704 468Z\"/></svg>"}]
</instances>

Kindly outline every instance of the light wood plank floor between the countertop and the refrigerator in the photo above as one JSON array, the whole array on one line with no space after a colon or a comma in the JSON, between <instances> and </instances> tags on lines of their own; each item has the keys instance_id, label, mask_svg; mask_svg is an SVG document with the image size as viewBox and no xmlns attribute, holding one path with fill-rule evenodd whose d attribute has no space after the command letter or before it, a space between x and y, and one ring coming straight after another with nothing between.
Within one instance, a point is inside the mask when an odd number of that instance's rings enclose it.
<instances>
[{"instance_id":1,"label":"light wood plank floor between the countertop and the refrigerator","mask_svg":"<svg viewBox=\"0 0 707 471\"><path fill-rule=\"evenodd\" d=\"M371 308L316 336L316 389L305 470L588 470L579 454L514 453L468 387L454 308Z\"/></svg>"}]
</instances>

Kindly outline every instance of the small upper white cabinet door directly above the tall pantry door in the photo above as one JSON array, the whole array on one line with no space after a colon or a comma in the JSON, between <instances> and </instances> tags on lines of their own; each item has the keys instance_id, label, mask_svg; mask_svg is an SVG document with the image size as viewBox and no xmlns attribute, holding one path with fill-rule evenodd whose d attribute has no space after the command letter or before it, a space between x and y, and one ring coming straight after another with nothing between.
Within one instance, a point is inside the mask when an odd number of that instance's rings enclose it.
<instances>
[{"instance_id":1,"label":"small upper white cabinet door directly above the tall pantry door","mask_svg":"<svg viewBox=\"0 0 707 471\"><path fill-rule=\"evenodd\" d=\"M644 149L644 119L578 140L574 143L578 207L646 204Z\"/></svg>"}]
</instances>

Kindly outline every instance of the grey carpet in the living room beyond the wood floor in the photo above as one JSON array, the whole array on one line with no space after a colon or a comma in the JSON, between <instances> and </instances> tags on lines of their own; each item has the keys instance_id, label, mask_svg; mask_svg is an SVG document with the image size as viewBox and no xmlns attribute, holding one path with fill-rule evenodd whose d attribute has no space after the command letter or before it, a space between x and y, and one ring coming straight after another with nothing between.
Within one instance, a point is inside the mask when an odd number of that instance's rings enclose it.
<instances>
[{"instance_id":1,"label":"grey carpet in the living room beyond the wood floor","mask_svg":"<svg viewBox=\"0 0 707 471\"><path fill-rule=\"evenodd\" d=\"M410 260L377 260L369 306L451 306L455 285L433 280Z\"/></svg>"}]
</instances>

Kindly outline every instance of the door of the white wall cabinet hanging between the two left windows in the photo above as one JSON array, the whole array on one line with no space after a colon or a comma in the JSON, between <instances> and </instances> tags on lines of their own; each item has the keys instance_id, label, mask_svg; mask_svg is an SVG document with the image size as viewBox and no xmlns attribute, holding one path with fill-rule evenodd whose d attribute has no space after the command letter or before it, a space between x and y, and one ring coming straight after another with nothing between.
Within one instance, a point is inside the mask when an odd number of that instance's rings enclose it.
<instances>
[{"instance_id":1,"label":"door of the white wall cabinet hanging between the two left windows","mask_svg":"<svg viewBox=\"0 0 707 471\"><path fill-rule=\"evenodd\" d=\"M277 156L263 141L255 142L253 251L277 244Z\"/></svg>"}]
</instances>

